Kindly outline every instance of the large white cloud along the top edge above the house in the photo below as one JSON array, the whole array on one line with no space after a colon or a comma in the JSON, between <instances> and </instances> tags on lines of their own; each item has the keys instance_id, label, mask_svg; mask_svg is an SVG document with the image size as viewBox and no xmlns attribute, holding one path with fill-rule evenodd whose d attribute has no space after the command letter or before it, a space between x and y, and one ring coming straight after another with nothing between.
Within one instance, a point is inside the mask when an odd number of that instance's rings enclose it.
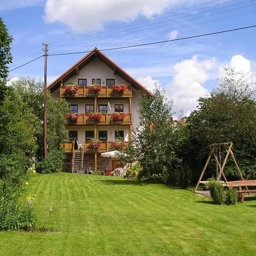
<instances>
[{"instance_id":1,"label":"large white cloud along the top edge above the house","mask_svg":"<svg viewBox=\"0 0 256 256\"><path fill-rule=\"evenodd\" d=\"M105 22L134 20L138 15L150 17L165 8L195 0L46 0L44 20L61 22L75 32L101 29Z\"/></svg>"}]
</instances>

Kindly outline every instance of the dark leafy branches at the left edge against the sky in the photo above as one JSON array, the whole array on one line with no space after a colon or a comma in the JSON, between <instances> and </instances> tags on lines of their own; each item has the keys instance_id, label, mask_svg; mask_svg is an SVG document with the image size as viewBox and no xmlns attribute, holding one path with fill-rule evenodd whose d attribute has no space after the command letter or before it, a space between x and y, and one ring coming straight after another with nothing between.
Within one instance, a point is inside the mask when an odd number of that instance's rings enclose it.
<instances>
[{"instance_id":1,"label":"dark leafy branches at the left edge against the sky","mask_svg":"<svg viewBox=\"0 0 256 256\"><path fill-rule=\"evenodd\" d=\"M8 29L0 18L0 104L7 90L8 64L12 63L11 44L12 37L8 34Z\"/></svg>"}]
</instances>

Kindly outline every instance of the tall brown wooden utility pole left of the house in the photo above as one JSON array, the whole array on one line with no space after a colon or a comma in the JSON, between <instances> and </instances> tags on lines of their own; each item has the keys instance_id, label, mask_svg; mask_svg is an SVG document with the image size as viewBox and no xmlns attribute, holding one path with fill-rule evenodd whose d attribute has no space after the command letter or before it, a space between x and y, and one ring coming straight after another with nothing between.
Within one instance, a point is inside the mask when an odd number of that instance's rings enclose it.
<instances>
[{"instance_id":1,"label":"tall brown wooden utility pole left of the house","mask_svg":"<svg viewBox=\"0 0 256 256\"><path fill-rule=\"evenodd\" d=\"M44 158L47 157L47 47L44 45Z\"/></svg>"}]
</instances>

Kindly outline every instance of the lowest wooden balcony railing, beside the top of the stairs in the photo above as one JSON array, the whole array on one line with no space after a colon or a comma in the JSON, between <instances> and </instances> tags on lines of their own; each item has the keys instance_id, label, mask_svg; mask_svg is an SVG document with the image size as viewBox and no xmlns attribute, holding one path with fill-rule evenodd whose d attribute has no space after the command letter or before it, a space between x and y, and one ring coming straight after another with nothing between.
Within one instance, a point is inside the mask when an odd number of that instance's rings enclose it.
<instances>
[{"instance_id":1,"label":"lowest wooden balcony railing, beside the top of the stairs","mask_svg":"<svg viewBox=\"0 0 256 256\"><path fill-rule=\"evenodd\" d=\"M65 153L73 153L73 144L74 141L70 141L68 143L65 143ZM102 141L102 143L99 145L98 149L90 148L89 142L84 141L84 153L104 153L113 151L112 148L113 141ZM125 145L122 148L122 151L125 150L125 146L128 144L128 142L125 142Z\"/></svg>"}]
</instances>

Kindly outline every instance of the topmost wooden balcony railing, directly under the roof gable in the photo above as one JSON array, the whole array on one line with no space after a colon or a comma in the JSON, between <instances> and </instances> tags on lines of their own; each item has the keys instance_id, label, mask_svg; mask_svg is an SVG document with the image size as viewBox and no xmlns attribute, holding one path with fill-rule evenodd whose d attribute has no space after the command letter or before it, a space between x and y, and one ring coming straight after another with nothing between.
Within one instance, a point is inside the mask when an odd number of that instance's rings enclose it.
<instances>
[{"instance_id":1,"label":"topmost wooden balcony railing, directly under the roof gable","mask_svg":"<svg viewBox=\"0 0 256 256\"><path fill-rule=\"evenodd\" d=\"M128 87L124 92L116 93L113 91L113 86L104 86L99 93L89 90L89 86L79 87L76 94L68 94L66 87L60 87L60 98L76 99L76 98L130 98L132 96L131 87Z\"/></svg>"}]
</instances>

